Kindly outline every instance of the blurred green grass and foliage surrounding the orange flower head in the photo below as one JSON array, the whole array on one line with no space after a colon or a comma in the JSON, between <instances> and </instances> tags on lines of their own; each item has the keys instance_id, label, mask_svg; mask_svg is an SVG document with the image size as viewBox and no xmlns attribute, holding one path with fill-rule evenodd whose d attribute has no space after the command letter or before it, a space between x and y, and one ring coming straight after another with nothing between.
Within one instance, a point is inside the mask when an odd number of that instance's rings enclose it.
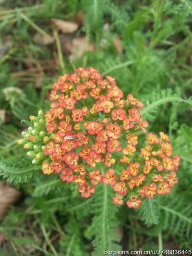
<instances>
[{"instance_id":1,"label":"blurred green grass and foliage surrounding the orange flower head","mask_svg":"<svg viewBox=\"0 0 192 256\"><path fill-rule=\"evenodd\" d=\"M127 207L108 216L116 223L111 228L117 237L109 238L109 228L106 233L111 250L181 249L187 255L192 247L192 1L0 0L0 157L8 163L24 158L17 140L27 122L20 121L48 110L52 84L79 66L115 77L125 97L132 93L144 102L149 131L168 133L173 153L181 157L179 183L156 202L158 225ZM92 255L102 256L92 221L102 213L92 209L92 199L84 204L76 187L60 191L57 180L43 176L13 181L22 197L0 223L0 255L83 256L95 247Z\"/></svg>"}]
</instances>

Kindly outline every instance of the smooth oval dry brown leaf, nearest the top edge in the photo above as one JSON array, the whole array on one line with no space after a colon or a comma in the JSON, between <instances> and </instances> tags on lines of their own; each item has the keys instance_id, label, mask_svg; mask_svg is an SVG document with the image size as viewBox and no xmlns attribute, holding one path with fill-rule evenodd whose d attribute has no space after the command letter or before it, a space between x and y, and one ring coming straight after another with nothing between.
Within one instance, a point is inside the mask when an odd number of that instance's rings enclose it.
<instances>
[{"instance_id":1,"label":"smooth oval dry brown leaf, nearest the top edge","mask_svg":"<svg viewBox=\"0 0 192 256\"><path fill-rule=\"evenodd\" d=\"M61 31L63 34L71 34L77 31L79 24L71 21L64 21L60 19L51 19L55 29Z\"/></svg>"}]
</instances>

